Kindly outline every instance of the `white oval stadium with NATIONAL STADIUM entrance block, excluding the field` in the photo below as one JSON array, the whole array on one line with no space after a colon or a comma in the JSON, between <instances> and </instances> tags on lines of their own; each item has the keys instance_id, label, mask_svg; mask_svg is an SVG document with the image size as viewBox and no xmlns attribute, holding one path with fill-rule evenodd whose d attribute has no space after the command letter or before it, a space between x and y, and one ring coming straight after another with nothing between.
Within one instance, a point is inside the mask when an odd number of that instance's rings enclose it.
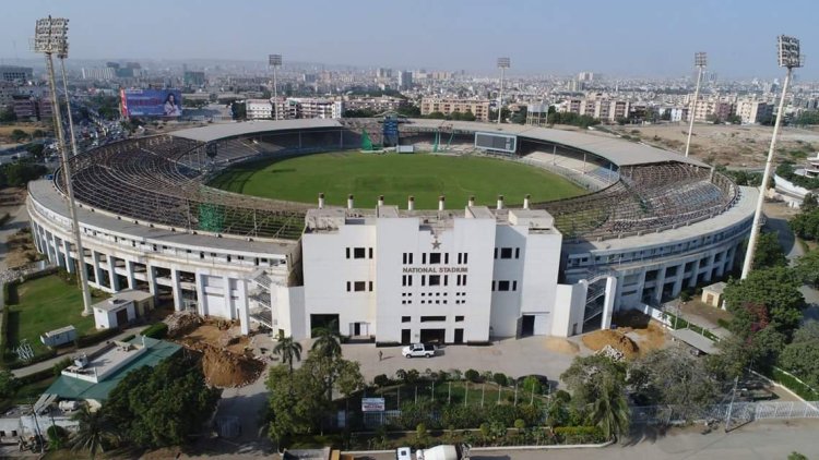
<instances>
[{"instance_id":1,"label":"white oval stadium with NATIONAL STADIUM entrance block, excluding the field","mask_svg":"<svg viewBox=\"0 0 819 460\"><path fill-rule=\"evenodd\" d=\"M522 207L441 197L422 210L412 201L351 196L332 207L205 185L239 161L359 148L365 129L380 143L378 120L285 120L74 157L91 286L144 290L176 310L238 319L246 334L259 324L300 339L336 322L342 335L382 344L566 337L722 277L759 193L695 159L615 137L439 120L402 122L400 143L497 155L590 193ZM38 251L73 271L80 255L56 178L29 184L27 208Z\"/></svg>"}]
</instances>

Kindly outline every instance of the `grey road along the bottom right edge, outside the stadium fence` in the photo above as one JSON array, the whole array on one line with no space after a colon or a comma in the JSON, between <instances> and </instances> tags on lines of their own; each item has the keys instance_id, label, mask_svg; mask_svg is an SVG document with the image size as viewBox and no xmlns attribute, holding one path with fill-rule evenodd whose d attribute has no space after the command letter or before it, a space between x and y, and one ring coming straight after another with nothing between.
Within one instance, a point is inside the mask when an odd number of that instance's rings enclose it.
<instances>
[{"instance_id":1,"label":"grey road along the bottom right edge, outside the stadium fence","mask_svg":"<svg viewBox=\"0 0 819 460\"><path fill-rule=\"evenodd\" d=\"M471 460L771 460L786 459L792 451L808 458L819 456L819 420L753 422L732 433L722 429L703 435L700 427L673 429L665 436L648 433L630 445L606 448L549 450L473 451ZM376 460L393 460L393 453L371 456Z\"/></svg>"}]
</instances>

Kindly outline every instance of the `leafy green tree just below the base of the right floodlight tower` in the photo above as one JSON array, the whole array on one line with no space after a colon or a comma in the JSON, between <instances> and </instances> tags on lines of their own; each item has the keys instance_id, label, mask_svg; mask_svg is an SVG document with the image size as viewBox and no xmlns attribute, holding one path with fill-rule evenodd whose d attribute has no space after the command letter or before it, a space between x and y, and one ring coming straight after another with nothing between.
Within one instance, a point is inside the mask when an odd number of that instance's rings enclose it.
<instances>
[{"instance_id":1,"label":"leafy green tree just below the base of the right floodlight tower","mask_svg":"<svg viewBox=\"0 0 819 460\"><path fill-rule=\"evenodd\" d=\"M731 280L725 288L725 303L735 315L749 304L763 305L770 322L781 332L790 336L802 319L805 298L799 292L802 282L786 267L751 270L745 280ZM747 330L732 327L732 331Z\"/></svg>"}]
</instances>

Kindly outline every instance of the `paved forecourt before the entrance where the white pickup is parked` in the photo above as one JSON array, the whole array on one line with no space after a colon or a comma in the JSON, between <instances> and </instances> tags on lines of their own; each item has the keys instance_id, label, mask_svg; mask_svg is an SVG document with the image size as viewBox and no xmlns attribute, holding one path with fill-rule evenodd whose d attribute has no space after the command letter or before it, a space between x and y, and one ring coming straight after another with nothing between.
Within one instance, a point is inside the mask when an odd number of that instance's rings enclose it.
<instances>
[{"instance_id":1,"label":"paved forecourt before the entrance where the white pickup is parked","mask_svg":"<svg viewBox=\"0 0 819 460\"><path fill-rule=\"evenodd\" d=\"M426 370L456 368L465 372L474 368L480 373L501 372L513 377L529 374L546 375L554 382L571 365L575 355L589 353L574 340L557 340L566 343L556 346L556 338L527 337L500 340L491 346L451 344L442 347L436 356L428 359L407 359L401 355L401 347L376 348L372 343L346 343L342 349L344 358L360 363L361 374L366 380L372 380L379 374L392 377L397 370L414 368L423 373ZM380 361L379 351L383 354Z\"/></svg>"}]
</instances>

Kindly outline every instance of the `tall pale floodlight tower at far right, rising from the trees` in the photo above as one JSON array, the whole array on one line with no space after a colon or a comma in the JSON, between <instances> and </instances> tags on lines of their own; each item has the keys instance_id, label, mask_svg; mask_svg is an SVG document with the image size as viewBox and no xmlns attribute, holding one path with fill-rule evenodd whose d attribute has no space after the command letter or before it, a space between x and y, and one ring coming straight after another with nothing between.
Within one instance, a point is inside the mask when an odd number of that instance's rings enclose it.
<instances>
[{"instance_id":1,"label":"tall pale floodlight tower at far right, rising from the trees","mask_svg":"<svg viewBox=\"0 0 819 460\"><path fill-rule=\"evenodd\" d=\"M780 35L776 37L779 48L779 65L786 68L787 73L785 74L785 84L782 85L782 96L780 97L780 108L776 111L776 121L773 123L773 135L771 136L771 147L768 149L768 160L765 160L765 170L762 174L762 183L759 185L759 199L757 199L757 211L753 213L753 226L751 227L751 234L748 239L748 251L745 253L745 263L743 264L743 275L740 279L748 277L751 268L753 267L753 254L757 251L757 242L759 240L759 223L762 219L762 204L765 198L765 189L768 187L768 181L771 180L771 167L773 166L773 154L776 149L776 134L780 131L780 124L782 124L782 118L785 114L785 94L787 93L787 84L791 83L791 73L795 68L803 65L803 57L799 53L799 39L788 37L787 35Z\"/></svg>"}]
</instances>

